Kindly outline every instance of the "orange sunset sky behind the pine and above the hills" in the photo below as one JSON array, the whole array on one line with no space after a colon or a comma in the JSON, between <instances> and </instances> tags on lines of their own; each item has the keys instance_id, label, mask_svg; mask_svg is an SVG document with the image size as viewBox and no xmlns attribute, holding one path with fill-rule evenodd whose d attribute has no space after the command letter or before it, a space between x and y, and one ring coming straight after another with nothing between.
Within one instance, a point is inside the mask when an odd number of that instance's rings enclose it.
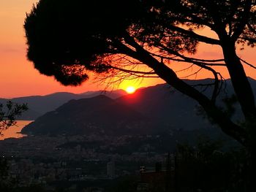
<instances>
[{"instance_id":1,"label":"orange sunset sky behind the pine and above the hills","mask_svg":"<svg viewBox=\"0 0 256 192\"><path fill-rule=\"evenodd\" d=\"M105 88L97 83L85 82L80 87L64 87L53 77L46 77L39 74L31 62L26 59L26 39L23 30L23 20L26 12L29 12L36 0L1 0L0 1L0 97L12 98L18 96L45 95L48 93L68 91L82 93ZM255 60L255 50L242 51L240 55L247 61ZM221 54L216 53L216 48L203 45L198 53L201 58L220 58ZM178 69L178 68L177 68ZM250 77L256 79L256 71L246 68ZM226 73L225 77L228 77ZM180 77L186 74L179 74ZM204 73L197 78L211 77ZM191 77L195 78L195 77ZM124 82L120 88L127 88L135 84L135 87L154 85L161 81L156 79L145 79L143 82Z\"/></svg>"}]
</instances>

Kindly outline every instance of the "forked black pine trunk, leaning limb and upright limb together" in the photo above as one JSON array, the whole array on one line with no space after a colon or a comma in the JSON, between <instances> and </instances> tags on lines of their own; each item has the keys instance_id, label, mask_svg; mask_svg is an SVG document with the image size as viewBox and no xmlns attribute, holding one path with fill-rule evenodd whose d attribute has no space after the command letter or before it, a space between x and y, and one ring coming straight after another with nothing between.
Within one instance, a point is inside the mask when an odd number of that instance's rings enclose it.
<instances>
[{"instance_id":1,"label":"forked black pine trunk, leaning limb and upright limb together","mask_svg":"<svg viewBox=\"0 0 256 192\"><path fill-rule=\"evenodd\" d=\"M222 50L234 91L239 103L241 104L241 109L246 119L246 126L243 127L233 123L233 121L230 120L222 110L219 110L214 102L208 99L208 97L203 93L200 93L200 91L197 91L197 89L179 79L172 69L149 55L146 50L143 50L143 48L137 44L137 42L133 41L132 46L136 49L136 51L130 51L130 56L132 56L132 58L136 58L144 64L147 64L151 69L154 69L154 72L162 78L162 80L165 80L165 82L173 86L173 88L176 88L176 90L181 93L195 99L195 101L203 107L207 115L222 128L222 131L225 132L225 134L233 137L246 147L249 151L249 172L247 172L249 180L248 185L246 185L246 191L256 191L256 177L254 177L256 173L255 99L251 85L249 84L246 73L244 72L244 67L236 55L235 42L227 41L226 39L223 41L222 39Z\"/></svg>"}]
</instances>

